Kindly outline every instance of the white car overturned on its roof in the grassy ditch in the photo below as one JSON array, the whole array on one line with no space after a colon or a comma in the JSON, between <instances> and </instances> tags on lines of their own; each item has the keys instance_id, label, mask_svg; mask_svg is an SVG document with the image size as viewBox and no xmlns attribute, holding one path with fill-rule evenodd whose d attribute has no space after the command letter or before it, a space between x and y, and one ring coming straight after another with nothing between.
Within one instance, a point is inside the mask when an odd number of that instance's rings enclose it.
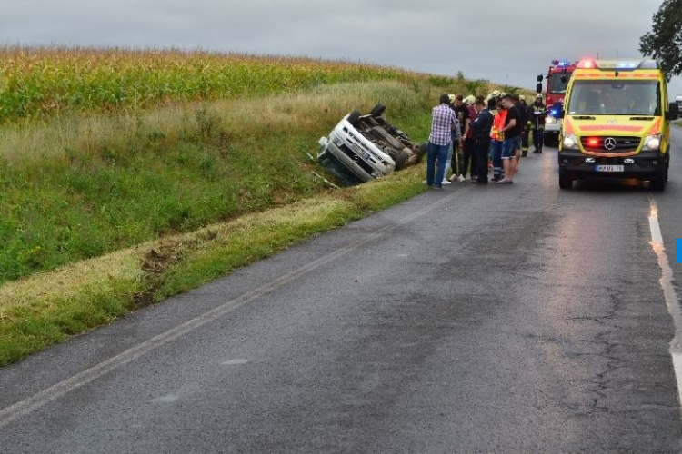
<instances>
[{"instance_id":1,"label":"white car overturned on its roof in the grassy ditch","mask_svg":"<svg viewBox=\"0 0 682 454\"><path fill-rule=\"evenodd\" d=\"M328 137L319 140L317 159L334 170L351 173L367 182L418 163L425 146L386 121L386 106L377 104L370 114L359 110L347 114Z\"/></svg>"}]
</instances>

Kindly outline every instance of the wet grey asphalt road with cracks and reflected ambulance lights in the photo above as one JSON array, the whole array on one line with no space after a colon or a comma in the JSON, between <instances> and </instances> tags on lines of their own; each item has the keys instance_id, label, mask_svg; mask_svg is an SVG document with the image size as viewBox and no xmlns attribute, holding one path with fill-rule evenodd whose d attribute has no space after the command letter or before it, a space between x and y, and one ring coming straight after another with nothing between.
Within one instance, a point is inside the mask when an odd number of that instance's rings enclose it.
<instances>
[{"instance_id":1,"label":"wet grey asphalt road with cracks and reflected ambulance lights","mask_svg":"<svg viewBox=\"0 0 682 454\"><path fill-rule=\"evenodd\" d=\"M531 154L2 369L0 452L678 452L674 134L664 193Z\"/></svg>"}]
</instances>

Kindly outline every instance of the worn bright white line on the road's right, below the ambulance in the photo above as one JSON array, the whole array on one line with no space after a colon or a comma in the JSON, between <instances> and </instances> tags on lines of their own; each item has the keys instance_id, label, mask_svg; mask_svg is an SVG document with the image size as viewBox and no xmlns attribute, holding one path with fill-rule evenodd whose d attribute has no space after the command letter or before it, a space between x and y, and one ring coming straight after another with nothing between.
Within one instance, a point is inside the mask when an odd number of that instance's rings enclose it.
<instances>
[{"instance_id":1,"label":"worn bright white line on the road's right, below the ambulance","mask_svg":"<svg viewBox=\"0 0 682 454\"><path fill-rule=\"evenodd\" d=\"M677 399L682 403L682 394L680 394L682 392L682 345L680 343L682 342L682 308L680 307L677 291L675 291L673 286L673 269L670 267L670 262L667 259L666 247L663 244L663 235L658 223L658 206L656 199L652 195L649 196L649 205L651 207L651 212L649 213L651 247L656 252L658 266L661 269L661 279L659 282L666 299L667 311L670 312L675 325L675 337L670 342L670 355L673 358L673 369L677 379Z\"/></svg>"}]
</instances>

